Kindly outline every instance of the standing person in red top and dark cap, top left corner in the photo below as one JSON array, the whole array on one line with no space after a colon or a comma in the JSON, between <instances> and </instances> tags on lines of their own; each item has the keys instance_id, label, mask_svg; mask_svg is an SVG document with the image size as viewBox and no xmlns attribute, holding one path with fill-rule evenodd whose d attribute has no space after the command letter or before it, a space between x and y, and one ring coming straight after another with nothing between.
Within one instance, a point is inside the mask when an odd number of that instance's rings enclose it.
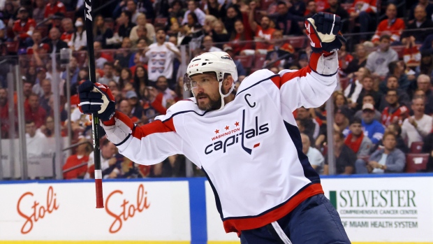
<instances>
[{"instance_id":1,"label":"standing person in red top and dark cap, top left corner","mask_svg":"<svg viewBox=\"0 0 433 244\"><path fill-rule=\"evenodd\" d=\"M15 38L20 41L21 47L29 47L31 45L31 34L36 27L34 19L29 17L29 13L26 8L22 7L18 10L18 20L13 24L13 33Z\"/></svg>"}]
</instances>

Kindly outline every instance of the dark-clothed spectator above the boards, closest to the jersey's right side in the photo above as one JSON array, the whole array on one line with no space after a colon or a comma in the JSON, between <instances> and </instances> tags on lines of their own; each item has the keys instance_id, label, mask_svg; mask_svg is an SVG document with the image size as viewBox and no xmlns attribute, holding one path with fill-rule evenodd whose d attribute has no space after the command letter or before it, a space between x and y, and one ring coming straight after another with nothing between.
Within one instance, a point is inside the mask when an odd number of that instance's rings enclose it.
<instances>
[{"instance_id":1,"label":"dark-clothed spectator above the boards, closest to the jersey's right side","mask_svg":"<svg viewBox=\"0 0 433 244\"><path fill-rule=\"evenodd\" d=\"M334 135L335 173L337 175L351 175L355 170L355 153L344 144L342 133L335 132ZM325 157L324 175L329 174L328 157Z\"/></svg>"}]
</instances>

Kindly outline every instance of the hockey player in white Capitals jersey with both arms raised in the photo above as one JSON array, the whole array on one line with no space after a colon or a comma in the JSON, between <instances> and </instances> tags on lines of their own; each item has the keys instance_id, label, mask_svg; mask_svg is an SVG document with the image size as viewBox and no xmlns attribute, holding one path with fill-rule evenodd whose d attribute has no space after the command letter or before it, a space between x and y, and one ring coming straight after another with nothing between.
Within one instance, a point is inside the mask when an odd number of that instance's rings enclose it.
<instances>
[{"instance_id":1,"label":"hockey player in white Capitals jersey with both arms raised","mask_svg":"<svg viewBox=\"0 0 433 244\"><path fill-rule=\"evenodd\" d=\"M105 85L80 85L80 107L98 113L108 139L138 164L184 154L206 173L226 232L241 243L350 243L320 178L302 152L293 110L321 106L334 91L340 18L318 13L305 22L309 66L267 69L245 78L226 52L189 63L184 85L193 98L171 106L152 123L135 126L115 110Z\"/></svg>"}]
</instances>

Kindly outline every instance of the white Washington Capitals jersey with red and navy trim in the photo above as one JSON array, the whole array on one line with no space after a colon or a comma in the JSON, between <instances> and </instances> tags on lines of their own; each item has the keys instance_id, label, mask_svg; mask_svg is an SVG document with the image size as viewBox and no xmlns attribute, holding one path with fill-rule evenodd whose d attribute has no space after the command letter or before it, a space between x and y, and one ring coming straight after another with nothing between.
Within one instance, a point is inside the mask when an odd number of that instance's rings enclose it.
<instances>
[{"instance_id":1,"label":"white Washington Capitals jersey with red and navy trim","mask_svg":"<svg viewBox=\"0 0 433 244\"><path fill-rule=\"evenodd\" d=\"M104 128L119 152L138 164L184 154L205 171L226 232L256 229L323 193L302 153L293 110L327 101L337 66L336 54L313 54L299 71L251 74L221 110L203 111L186 99L142 127L117 112L116 124Z\"/></svg>"}]
</instances>

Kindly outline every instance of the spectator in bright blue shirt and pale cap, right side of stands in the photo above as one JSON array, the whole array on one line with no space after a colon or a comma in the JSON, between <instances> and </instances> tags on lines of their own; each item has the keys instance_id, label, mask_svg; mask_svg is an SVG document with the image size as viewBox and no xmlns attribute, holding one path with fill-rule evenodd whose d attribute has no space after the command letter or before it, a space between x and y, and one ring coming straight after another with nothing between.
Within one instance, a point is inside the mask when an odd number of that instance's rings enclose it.
<instances>
[{"instance_id":1,"label":"spectator in bright blue shirt and pale cap, right side of stands","mask_svg":"<svg viewBox=\"0 0 433 244\"><path fill-rule=\"evenodd\" d=\"M374 120L374 106L372 103L365 103L362 106L362 129L364 135L372 141L373 144L379 143L385 132L385 127L379 121Z\"/></svg>"}]
</instances>

